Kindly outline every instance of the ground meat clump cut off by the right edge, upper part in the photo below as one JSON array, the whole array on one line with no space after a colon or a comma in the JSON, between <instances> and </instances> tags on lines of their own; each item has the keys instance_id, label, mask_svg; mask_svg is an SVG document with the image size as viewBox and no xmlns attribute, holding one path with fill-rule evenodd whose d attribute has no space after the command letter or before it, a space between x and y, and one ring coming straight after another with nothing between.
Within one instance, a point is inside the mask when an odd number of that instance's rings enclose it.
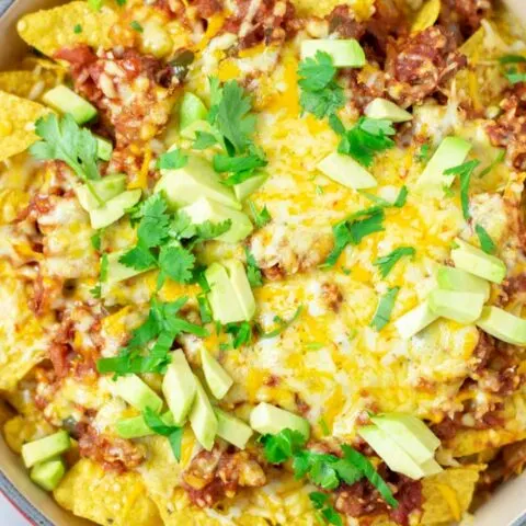
<instances>
[{"instance_id":1,"label":"ground meat clump cut off by the right edge, upper part","mask_svg":"<svg viewBox=\"0 0 526 526\"><path fill-rule=\"evenodd\" d=\"M487 127L491 144L506 149L507 161L526 170L526 83L515 84L501 102L503 113Z\"/></svg>"}]
</instances>

